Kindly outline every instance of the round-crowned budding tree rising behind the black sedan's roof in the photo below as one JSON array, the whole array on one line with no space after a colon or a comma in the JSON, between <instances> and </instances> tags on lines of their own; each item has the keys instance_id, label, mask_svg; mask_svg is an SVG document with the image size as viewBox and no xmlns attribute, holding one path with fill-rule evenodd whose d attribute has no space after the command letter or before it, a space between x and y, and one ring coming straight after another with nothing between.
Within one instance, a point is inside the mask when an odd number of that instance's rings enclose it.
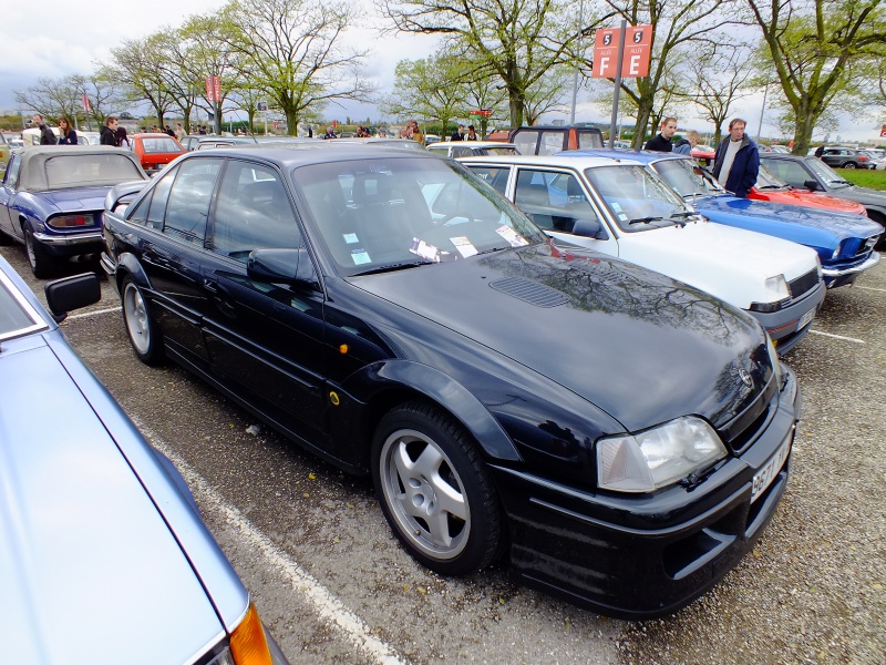
<instances>
[{"instance_id":1,"label":"round-crowned budding tree rising behind the black sedan's roof","mask_svg":"<svg viewBox=\"0 0 886 665\"><path fill-rule=\"evenodd\" d=\"M225 7L222 41L253 88L286 115L290 135L299 119L329 102L370 101L373 89L360 76L367 51L341 45L354 11L307 0L233 0Z\"/></svg>"}]
</instances>

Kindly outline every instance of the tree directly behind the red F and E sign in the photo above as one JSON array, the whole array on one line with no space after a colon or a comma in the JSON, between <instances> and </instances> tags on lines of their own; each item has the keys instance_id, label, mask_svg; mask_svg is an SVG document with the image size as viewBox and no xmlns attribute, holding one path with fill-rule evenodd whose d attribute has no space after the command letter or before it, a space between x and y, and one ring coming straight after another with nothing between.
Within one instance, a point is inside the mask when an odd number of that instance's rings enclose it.
<instances>
[{"instance_id":1,"label":"tree directly behind the red F and E sign","mask_svg":"<svg viewBox=\"0 0 886 665\"><path fill-rule=\"evenodd\" d=\"M690 57L689 45L717 43L722 35L715 31L732 21L722 10L735 0L606 0L612 10L630 25L652 24L652 54L649 75L642 79L625 79L621 91L632 100L637 109L637 129L633 147L642 145L646 129L652 121L652 131L658 127L658 117L664 104L657 95L682 95L679 82L672 72L683 65ZM666 85L666 82L669 83ZM658 116L657 116L658 113Z\"/></svg>"}]
</instances>

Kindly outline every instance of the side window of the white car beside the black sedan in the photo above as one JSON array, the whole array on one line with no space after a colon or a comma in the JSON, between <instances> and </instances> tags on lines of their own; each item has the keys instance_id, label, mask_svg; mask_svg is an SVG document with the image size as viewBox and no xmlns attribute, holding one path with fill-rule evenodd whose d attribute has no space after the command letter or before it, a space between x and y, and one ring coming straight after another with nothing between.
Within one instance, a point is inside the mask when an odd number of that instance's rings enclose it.
<instances>
[{"instance_id":1,"label":"side window of the white car beside the black sedan","mask_svg":"<svg viewBox=\"0 0 886 665\"><path fill-rule=\"evenodd\" d=\"M597 219L578 176L569 172L521 168L514 201L546 231L571 233L577 219Z\"/></svg>"}]
</instances>

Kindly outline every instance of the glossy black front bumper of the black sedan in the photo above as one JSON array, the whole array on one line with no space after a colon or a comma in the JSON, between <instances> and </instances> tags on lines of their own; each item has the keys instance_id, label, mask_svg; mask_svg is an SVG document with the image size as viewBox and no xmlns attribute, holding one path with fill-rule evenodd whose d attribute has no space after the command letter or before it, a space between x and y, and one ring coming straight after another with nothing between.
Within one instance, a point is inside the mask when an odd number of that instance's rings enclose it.
<instances>
[{"instance_id":1,"label":"glossy black front bumper of the black sedan","mask_svg":"<svg viewBox=\"0 0 886 665\"><path fill-rule=\"evenodd\" d=\"M608 616L652 618L713 586L753 546L784 494L790 454L751 502L754 475L793 442L801 397L787 381L740 456L692 489L616 495L495 467L508 510L511 562L537 586Z\"/></svg>"}]
</instances>

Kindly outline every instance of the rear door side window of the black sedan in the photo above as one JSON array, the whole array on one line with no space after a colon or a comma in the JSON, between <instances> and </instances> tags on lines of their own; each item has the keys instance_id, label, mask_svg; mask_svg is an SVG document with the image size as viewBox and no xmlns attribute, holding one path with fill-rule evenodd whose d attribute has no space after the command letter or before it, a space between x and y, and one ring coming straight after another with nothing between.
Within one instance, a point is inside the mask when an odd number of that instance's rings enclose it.
<instances>
[{"instance_id":1,"label":"rear door side window of the black sedan","mask_svg":"<svg viewBox=\"0 0 886 665\"><path fill-rule=\"evenodd\" d=\"M209 204L222 160L189 160L179 164L172 183L163 233L203 245ZM154 215L152 203L151 216Z\"/></svg>"}]
</instances>

